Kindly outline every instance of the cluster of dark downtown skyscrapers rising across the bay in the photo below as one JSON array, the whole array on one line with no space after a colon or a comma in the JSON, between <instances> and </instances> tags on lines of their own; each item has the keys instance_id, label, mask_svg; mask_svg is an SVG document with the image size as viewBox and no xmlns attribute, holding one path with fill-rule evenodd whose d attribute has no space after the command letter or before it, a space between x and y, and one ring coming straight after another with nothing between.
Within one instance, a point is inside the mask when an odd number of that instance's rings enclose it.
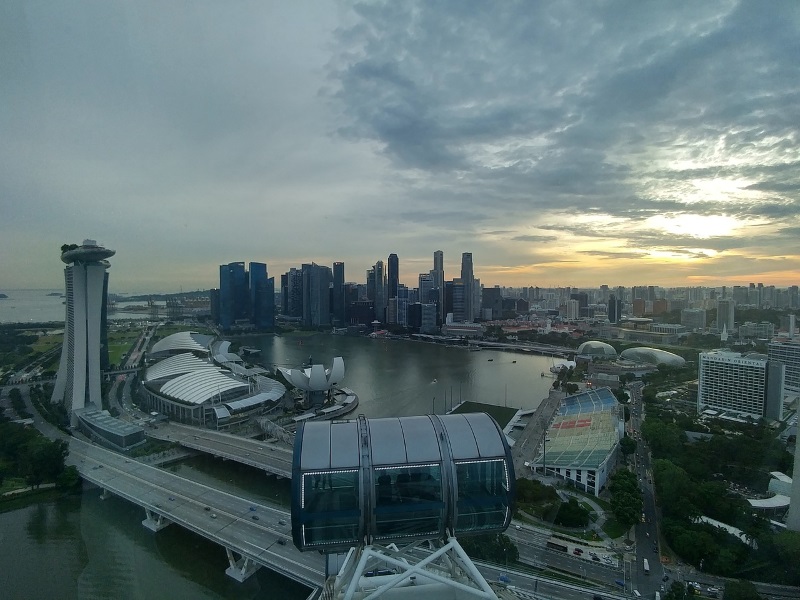
<instances>
[{"instance_id":1,"label":"cluster of dark downtown skyscrapers rising across the bay","mask_svg":"<svg viewBox=\"0 0 800 600\"><path fill-rule=\"evenodd\" d=\"M268 330L280 314L309 327L380 324L434 333L445 322L481 317L481 286L471 252L462 254L460 275L445 280L444 253L437 250L433 268L419 274L415 288L400 282L400 259L390 254L367 270L364 283L347 282L343 262L333 268L311 262L282 274L276 289L265 264L251 262L248 269L236 262L220 266L211 313L223 331Z\"/></svg>"}]
</instances>

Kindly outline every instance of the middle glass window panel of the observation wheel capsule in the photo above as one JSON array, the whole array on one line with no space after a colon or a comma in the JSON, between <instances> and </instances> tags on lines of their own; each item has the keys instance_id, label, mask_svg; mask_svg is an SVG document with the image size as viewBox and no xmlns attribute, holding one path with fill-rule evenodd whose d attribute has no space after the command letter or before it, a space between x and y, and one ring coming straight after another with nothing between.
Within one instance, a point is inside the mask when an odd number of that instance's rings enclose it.
<instances>
[{"instance_id":1,"label":"middle glass window panel of the observation wheel capsule","mask_svg":"<svg viewBox=\"0 0 800 600\"><path fill-rule=\"evenodd\" d=\"M375 538L438 535L444 519L438 464L376 467Z\"/></svg>"}]
</instances>

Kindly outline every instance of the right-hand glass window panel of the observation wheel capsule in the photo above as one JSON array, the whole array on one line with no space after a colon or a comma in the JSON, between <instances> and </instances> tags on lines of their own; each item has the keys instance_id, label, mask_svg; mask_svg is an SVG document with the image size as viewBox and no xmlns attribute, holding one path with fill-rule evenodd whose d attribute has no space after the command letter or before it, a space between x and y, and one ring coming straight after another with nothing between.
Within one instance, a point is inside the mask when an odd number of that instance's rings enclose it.
<instances>
[{"instance_id":1,"label":"right-hand glass window panel of the observation wheel capsule","mask_svg":"<svg viewBox=\"0 0 800 600\"><path fill-rule=\"evenodd\" d=\"M502 528L509 511L508 468L504 459L456 463L456 531Z\"/></svg>"}]
</instances>

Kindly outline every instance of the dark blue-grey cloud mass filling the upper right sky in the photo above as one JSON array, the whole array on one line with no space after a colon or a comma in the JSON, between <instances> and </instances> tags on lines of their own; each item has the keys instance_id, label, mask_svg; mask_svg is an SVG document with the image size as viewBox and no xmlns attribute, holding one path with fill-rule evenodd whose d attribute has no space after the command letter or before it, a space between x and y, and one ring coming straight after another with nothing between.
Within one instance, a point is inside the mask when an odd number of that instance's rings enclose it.
<instances>
[{"instance_id":1,"label":"dark blue-grey cloud mass filling the upper right sky","mask_svg":"<svg viewBox=\"0 0 800 600\"><path fill-rule=\"evenodd\" d=\"M359 5L358 24L340 34L337 99L347 131L398 166L500 206L719 214L718 203L687 207L680 191L652 198L631 179L658 152L708 164L662 169L662 183L767 179L796 160L800 12L773 8ZM790 178L750 189L795 194Z\"/></svg>"}]
</instances>

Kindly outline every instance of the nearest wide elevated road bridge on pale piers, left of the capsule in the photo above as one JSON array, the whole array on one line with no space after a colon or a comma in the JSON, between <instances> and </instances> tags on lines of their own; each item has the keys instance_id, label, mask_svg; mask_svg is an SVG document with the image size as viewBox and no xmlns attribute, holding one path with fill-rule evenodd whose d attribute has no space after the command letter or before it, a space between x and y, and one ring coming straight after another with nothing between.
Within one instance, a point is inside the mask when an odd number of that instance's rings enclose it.
<instances>
[{"instance_id":1,"label":"nearest wide elevated road bridge on pale piers, left of the capsule","mask_svg":"<svg viewBox=\"0 0 800 600\"><path fill-rule=\"evenodd\" d=\"M146 527L158 531L175 523L226 549L231 577L243 581L265 566L316 588L324 581L324 560L301 553L291 541L289 513L195 483L99 446L70 440L68 462L81 476L145 509ZM237 557L238 555L238 557Z\"/></svg>"}]
</instances>

